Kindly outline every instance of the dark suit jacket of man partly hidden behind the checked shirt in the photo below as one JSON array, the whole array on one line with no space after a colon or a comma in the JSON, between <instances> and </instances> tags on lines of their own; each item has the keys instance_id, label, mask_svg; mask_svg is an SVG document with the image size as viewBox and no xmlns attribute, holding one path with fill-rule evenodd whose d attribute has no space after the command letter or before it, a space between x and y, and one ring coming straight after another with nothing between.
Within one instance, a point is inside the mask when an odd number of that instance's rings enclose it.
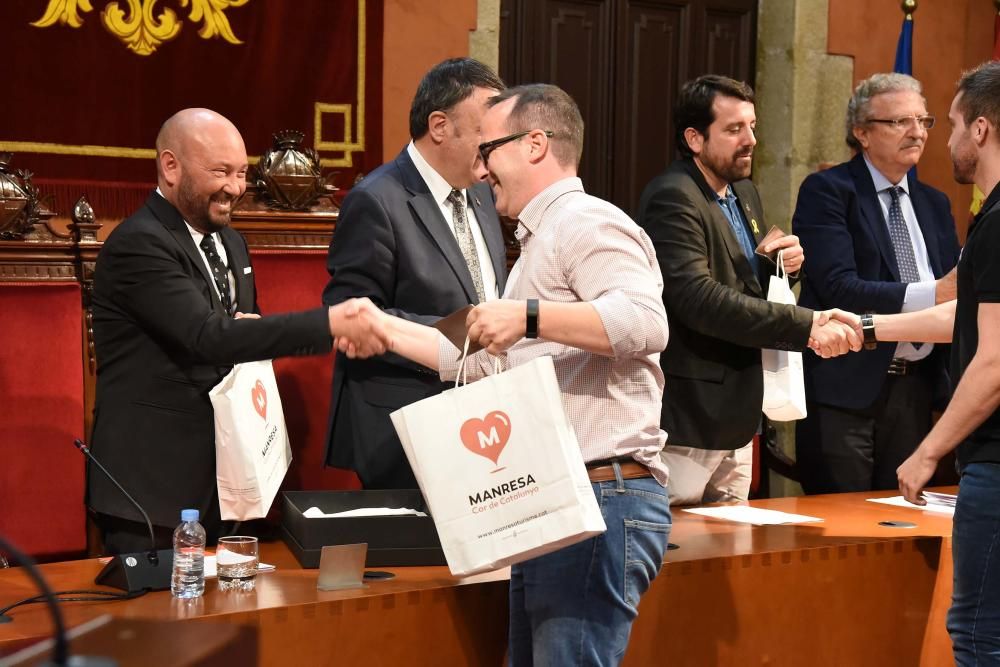
<instances>
[{"instance_id":1,"label":"dark suit jacket of man partly hidden behind the checked shirt","mask_svg":"<svg viewBox=\"0 0 1000 667\"><path fill-rule=\"evenodd\" d=\"M485 183L468 193L502 293L506 252L493 193ZM455 235L405 149L344 199L327 269L328 305L366 296L392 315L433 324L476 302ZM436 372L396 355L338 354L327 464L356 471L366 488L416 488L389 414L445 388Z\"/></svg>"}]
</instances>

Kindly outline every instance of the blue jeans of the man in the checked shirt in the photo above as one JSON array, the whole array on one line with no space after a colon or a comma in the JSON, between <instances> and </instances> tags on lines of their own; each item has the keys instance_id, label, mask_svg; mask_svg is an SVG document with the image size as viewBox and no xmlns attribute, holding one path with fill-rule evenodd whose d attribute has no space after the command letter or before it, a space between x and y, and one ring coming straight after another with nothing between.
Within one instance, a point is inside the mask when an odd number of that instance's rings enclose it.
<instances>
[{"instance_id":1,"label":"blue jeans of the man in the checked shirt","mask_svg":"<svg viewBox=\"0 0 1000 667\"><path fill-rule=\"evenodd\" d=\"M592 484L607 532L514 565L512 667L617 665L639 598L663 564L667 491L651 477Z\"/></svg>"}]
</instances>

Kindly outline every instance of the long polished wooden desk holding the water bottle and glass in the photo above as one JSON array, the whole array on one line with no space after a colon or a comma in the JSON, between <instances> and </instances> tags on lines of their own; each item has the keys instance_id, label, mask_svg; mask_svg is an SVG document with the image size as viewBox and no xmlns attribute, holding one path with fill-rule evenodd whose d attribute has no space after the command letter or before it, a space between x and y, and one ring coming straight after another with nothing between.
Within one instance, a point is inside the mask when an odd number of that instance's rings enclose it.
<instances>
[{"instance_id":1,"label":"long polished wooden desk holding the water bottle and glass","mask_svg":"<svg viewBox=\"0 0 1000 667\"><path fill-rule=\"evenodd\" d=\"M674 512L680 546L643 598L626 665L951 664L944 612L951 597L947 516L868 503L879 494L755 501L823 517L820 524L748 526ZM881 494L894 495L894 494ZM916 528L879 521L906 520ZM63 605L70 625L102 613L126 618L252 625L264 665L499 665L506 633L506 572L456 579L446 568L386 568L395 579L320 592L281 543L251 594L204 598L169 592L116 603ZM96 560L42 568L56 590L92 588ZM0 571L0 606L34 594L18 570ZM39 605L0 625L0 653L48 635Z\"/></svg>"}]
</instances>

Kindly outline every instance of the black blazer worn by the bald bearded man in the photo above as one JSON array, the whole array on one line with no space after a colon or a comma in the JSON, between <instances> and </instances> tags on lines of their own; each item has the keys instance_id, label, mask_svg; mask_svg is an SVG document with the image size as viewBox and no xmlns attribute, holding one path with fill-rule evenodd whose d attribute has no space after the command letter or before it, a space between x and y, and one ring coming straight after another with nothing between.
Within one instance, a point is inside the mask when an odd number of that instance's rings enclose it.
<instances>
[{"instance_id":1,"label":"black blazer worn by the bald bearded man","mask_svg":"<svg viewBox=\"0 0 1000 667\"><path fill-rule=\"evenodd\" d=\"M237 307L257 312L246 242L220 232ZM94 272L97 398L93 452L154 524L191 507L209 515L218 496L209 390L242 361L328 352L325 308L234 320L219 302L180 213L158 194L108 237ZM120 491L88 470L88 504L141 521Z\"/></svg>"}]
</instances>

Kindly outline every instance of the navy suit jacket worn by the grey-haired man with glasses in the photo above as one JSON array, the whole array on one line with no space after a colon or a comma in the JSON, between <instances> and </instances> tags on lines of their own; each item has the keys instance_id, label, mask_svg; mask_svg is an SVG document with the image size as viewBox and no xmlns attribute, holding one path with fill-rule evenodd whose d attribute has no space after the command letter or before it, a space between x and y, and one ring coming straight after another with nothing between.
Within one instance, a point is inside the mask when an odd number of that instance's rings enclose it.
<instances>
[{"instance_id":1,"label":"navy suit jacket worn by the grey-haired man with glasses","mask_svg":"<svg viewBox=\"0 0 1000 667\"><path fill-rule=\"evenodd\" d=\"M951 204L944 193L912 175L907 178L931 270L940 278L958 262ZM899 282L889 229L860 153L803 181L792 231L806 253L800 304L852 313L900 312L906 285ZM868 407L882 389L895 349L895 343L882 343L871 352L835 359L807 355L807 394L828 405ZM946 356L943 349L935 349L931 361L943 365Z\"/></svg>"}]
</instances>

